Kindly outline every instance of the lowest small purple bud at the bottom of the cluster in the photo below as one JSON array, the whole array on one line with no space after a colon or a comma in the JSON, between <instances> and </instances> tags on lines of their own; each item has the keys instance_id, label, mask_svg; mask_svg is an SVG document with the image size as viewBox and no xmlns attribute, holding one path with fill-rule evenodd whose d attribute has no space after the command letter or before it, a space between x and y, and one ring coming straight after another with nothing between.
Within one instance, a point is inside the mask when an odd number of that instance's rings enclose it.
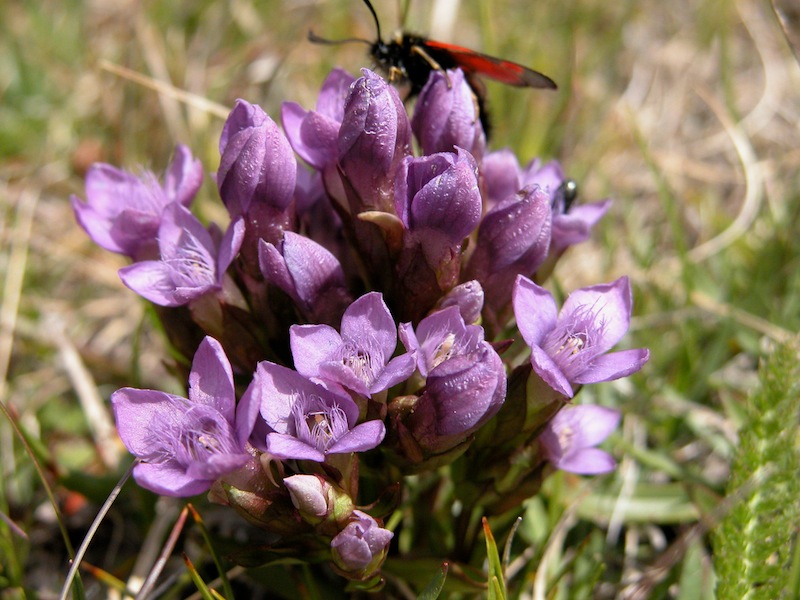
<instances>
[{"instance_id":1,"label":"lowest small purple bud at the bottom of the cluster","mask_svg":"<svg viewBox=\"0 0 800 600\"><path fill-rule=\"evenodd\" d=\"M392 537L368 514L353 511L353 520L331 540L333 561L345 573L366 578L380 568Z\"/></svg>"}]
</instances>

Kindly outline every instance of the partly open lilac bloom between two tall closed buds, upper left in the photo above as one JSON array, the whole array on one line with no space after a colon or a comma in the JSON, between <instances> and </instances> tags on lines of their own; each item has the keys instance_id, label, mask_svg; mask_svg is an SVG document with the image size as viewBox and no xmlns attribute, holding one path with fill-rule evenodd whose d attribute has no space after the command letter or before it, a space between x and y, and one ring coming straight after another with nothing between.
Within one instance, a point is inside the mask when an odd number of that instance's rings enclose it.
<instances>
[{"instance_id":1,"label":"partly open lilac bloom between two tall closed buds, upper left","mask_svg":"<svg viewBox=\"0 0 800 600\"><path fill-rule=\"evenodd\" d=\"M295 102L284 102L281 121L289 143L298 156L321 171L339 159L339 127L344 102L355 77L334 69L322 84L316 110L305 110Z\"/></svg>"}]
</instances>

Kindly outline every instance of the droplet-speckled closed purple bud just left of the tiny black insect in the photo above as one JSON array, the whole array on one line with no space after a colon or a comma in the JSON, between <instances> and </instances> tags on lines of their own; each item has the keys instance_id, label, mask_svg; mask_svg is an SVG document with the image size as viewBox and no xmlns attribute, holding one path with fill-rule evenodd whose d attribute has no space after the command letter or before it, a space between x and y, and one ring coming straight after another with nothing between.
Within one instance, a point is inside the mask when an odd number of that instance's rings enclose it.
<instances>
[{"instance_id":1,"label":"droplet-speckled closed purple bud just left of the tiny black insect","mask_svg":"<svg viewBox=\"0 0 800 600\"><path fill-rule=\"evenodd\" d=\"M500 312L517 275L533 275L544 262L551 223L550 200L538 187L507 198L483 217L466 273L481 282L490 308Z\"/></svg>"}]
</instances>

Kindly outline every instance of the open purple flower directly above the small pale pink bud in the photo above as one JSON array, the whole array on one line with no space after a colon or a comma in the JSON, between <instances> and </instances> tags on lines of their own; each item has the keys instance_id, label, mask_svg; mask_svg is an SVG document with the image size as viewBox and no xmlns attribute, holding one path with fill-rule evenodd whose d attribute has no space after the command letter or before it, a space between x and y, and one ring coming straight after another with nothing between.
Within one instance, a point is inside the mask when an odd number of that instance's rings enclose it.
<instances>
[{"instance_id":1,"label":"open purple flower directly above the small pale pink bud","mask_svg":"<svg viewBox=\"0 0 800 600\"><path fill-rule=\"evenodd\" d=\"M261 440L254 445L284 460L323 462L328 454L363 452L386 433L382 421L356 425L358 407L344 392L271 362L258 364L239 408L251 419L260 410L269 433L266 445Z\"/></svg>"}]
</instances>

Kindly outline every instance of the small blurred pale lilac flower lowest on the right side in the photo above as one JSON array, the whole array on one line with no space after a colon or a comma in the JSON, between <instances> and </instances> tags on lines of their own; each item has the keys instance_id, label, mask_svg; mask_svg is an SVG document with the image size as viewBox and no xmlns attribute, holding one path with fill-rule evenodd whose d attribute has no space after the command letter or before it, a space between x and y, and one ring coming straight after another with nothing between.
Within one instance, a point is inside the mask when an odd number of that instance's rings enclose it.
<instances>
[{"instance_id":1,"label":"small blurred pale lilac flower lowest on the right side","mask_svg":"<svg viewBox=\"0 0 800 600\"><path fill-rule=\"evenodd\" d=\"M616 461L594 446L617 428L620 416L619 411L603 406L565 406L539 436L545 457L557 469L579 475L612 471Z\"/></svg>"}]
</instances>

